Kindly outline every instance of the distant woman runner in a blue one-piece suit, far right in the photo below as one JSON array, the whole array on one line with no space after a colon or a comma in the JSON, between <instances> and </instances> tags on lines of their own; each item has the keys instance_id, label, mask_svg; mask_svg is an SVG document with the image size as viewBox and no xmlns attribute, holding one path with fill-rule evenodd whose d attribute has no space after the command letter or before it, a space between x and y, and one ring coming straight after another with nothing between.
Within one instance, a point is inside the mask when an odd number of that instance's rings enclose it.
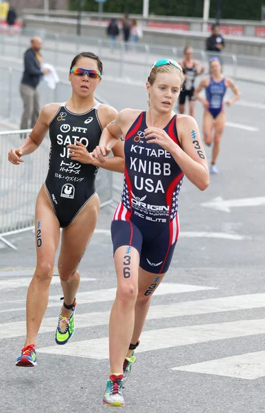
<instances>
[{"instance_id":1,"label":"distant woman runner in a blue one-piece suit, far right","mask_svg":"<svg viewBox=\"0 0 265 413\"><path fill-rule=\"evenodd\" d=\"M224 94L227 87L233 91L235 96L225 102L227 106L231 106L240 98L240 92L235 87L230 78L225 78L222 74L222 67L217 57L210 59L211 75L206 76L200 82L200 85L194 92L196 99L203 103L205 112L203 114L203 137L205 144L211 146L213 139L212 132L214 130L214 147L211 155L210 173L218 173L216 168L216 159L220 151L220 140L224 131L225 112L224 112ZM205 88L206 98L202 98L199 93Z\"/></svg>"}]
</instances>

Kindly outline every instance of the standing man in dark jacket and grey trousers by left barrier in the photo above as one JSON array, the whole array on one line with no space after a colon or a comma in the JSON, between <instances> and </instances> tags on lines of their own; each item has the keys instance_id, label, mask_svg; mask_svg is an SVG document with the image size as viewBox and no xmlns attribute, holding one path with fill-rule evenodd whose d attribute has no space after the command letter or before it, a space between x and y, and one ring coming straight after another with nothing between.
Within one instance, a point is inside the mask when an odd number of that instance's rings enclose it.
<instances>
[{"instance_id":1,"label":"standing man in dark jacket and grey trousers by left barrier","mask_svg":"<svg viewBox=\"0 0 265 413\"><path fill-rule=\"evenodd\" d=\"M37 91L41 77L49 73L41 69L41 39L33 37L30 49L24 54L24 72L21 79L20 93L24 109L21 119L21 129L34 127L40 113L39 95Z\"/></svg>"}]
</instances>

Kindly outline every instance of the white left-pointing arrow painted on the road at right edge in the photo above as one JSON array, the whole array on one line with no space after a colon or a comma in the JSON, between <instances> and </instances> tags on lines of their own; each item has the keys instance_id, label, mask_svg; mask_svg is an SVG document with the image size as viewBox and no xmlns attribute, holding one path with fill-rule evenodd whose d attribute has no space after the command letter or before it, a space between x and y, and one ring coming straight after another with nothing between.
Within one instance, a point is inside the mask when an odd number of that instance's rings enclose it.
<instances>
[{"instance_id":1,"label":"white left-pointing arrow painted on the road at right edge","mask_svg":"<svg viewBox=\"0 0 265 413\"><path fill-rule=\"evenodd\" d=\"M209 202L203 202L200 206L217 209L218 211L231 212L231 208L260 207L260 205L264 204L265 196L256 198L240 198L237 200L224 200L221 196L218 196Z\"/></svg>"}]
</instances>

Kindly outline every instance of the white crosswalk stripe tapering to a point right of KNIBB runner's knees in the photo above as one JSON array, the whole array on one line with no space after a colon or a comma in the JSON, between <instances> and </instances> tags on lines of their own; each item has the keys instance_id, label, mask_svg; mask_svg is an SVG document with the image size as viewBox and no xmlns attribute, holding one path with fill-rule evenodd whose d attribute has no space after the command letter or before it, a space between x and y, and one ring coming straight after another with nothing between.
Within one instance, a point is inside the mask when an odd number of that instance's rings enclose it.
<instances>
[{"instance_id":1,"label":"white crosswalk stripe tapering to a point right of KNIBB runner's knees","mask_svg":"<svg viewBox=\"0 0 265 413\"><path fill-rule=\"evenodd\" d=\"M168 295L179 293L191 293L201 290L215 290L214 287L194 286L191 284L174 284L174 283L162 283L161 286L154 292L154 295ZM116 288L106 288L104 290L91 290L83 293L78 293L76 301L78 304L91 304L100 303L105 301L114 301L116 296ZM49 297L48 307L60 307L62 301L60 301L61 295L51 295ZM54 301L54 302L53 302ZM20 308L7 308L0 310L0 313L12 313L14 311L25 311L25 307Z\"/></svg>"}]
</instances>

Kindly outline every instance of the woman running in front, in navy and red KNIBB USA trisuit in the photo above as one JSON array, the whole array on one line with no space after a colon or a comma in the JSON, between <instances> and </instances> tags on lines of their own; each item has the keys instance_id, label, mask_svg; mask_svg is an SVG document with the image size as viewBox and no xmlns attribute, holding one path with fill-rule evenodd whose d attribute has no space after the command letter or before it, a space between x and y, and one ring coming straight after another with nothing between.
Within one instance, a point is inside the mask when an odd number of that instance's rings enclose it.
<instances>
[{"instance_id":1,"label":"woman running in front, in navy and red KNIBB USA trisuit","mask_svg":"<svg viewBox=\"0 0 265 413\"><path fill-rule=\"evenodd\" d=\"M178 239L178 193L183 176L202 191L209 184L196 120L172 111L183 81L176 61L155 62L146 83L148 111L122 110L104 129L100 146L93 151L104 165L106 153L125 137L124 190L111 224L117 295L110 319L106 405L125 405L122 385L135 362L134 350L150 298L168 271Z\"/></svg>"}]
</instances>

